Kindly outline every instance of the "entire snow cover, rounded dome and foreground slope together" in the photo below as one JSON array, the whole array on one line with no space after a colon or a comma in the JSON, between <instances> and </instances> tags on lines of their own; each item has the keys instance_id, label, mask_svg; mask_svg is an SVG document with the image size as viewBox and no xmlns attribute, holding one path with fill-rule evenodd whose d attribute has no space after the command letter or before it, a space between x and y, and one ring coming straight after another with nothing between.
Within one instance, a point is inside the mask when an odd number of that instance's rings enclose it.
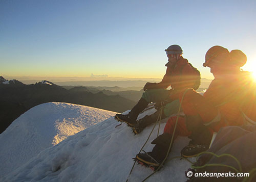
<instances>
[{"instance_id":1,"label":"entire snow cover, rounded dome and foreground slope together","mask_svg":"<svg viewBox=\"0 0 256 182\"><path fill-rule=\"evenodd\" d=\"M139 135L134 135L131 127L125 124L117 126L120 122L114 117L102 121L100 115L105 111L87 107L80 112L77 107L65 103L47 103L32 108L11 124L6 132L0 135L5 137L5 140L4 137L0 140L4 149L0 155L0 171L8 169L5 175L2 173L0 180L125 181L133 166L133 158L146 141L153 125L146 127ZM148 110L140 114L139 118L155 111ZM114 113L106 115L109 117ZM160 134L163 133L165 121L166 119L162 120L160 125ZM86 129L75 135L70 134L70 131L82 127ZM72 136L60 143L54 138L57 136L61 139L65 135ZM152 150L154 145L150 142L156 137L157 129L144 147L145 151ZM54 141L58 144L55 145ZM187 143L187 138L178 137L168 159L180 156L180 150ZM29 161L28 157L24 162L19 161L19 167L15 168L15 160L27 156L26 153L33 153L34 157ZM12 160L12 165L10 162L7 165L9 160ZM147 181L185 181L184 172L189 167L190 163L187 161L174 159L166 162L165 166ZM141 181L151 173L150 168L135 165L129 181Z\"/></svg>"}]
</instances>

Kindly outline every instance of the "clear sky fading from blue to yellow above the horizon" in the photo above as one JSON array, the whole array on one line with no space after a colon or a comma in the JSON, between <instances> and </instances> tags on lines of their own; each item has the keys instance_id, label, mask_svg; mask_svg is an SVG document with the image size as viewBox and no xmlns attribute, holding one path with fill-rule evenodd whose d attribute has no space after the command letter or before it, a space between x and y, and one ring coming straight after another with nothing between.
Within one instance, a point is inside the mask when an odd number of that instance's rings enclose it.
<instances>
[{"instance_id":1,"label":"clear sky fading from blue to yellow above the horizon","mask_svg":"<svg viewBox=\"0 0 256 182\"><path fill-rule=\"evenodd\" d=\"M246 0L0 0L0 74L161 78L172 44L207 79L202 64L214 45L241 49L243 69L254 71L255 8Z\"/></svg>"}]
</instances>

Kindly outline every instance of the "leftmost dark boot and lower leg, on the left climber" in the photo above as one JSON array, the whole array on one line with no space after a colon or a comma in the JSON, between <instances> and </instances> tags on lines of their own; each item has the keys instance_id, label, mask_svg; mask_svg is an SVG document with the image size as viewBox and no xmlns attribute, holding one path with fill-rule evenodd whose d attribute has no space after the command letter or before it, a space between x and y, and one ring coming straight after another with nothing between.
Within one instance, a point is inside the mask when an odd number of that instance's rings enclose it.
<instances>
[{"instance_id":1,"label":"leftmost dark boot and lower leg, on the left climber","mask_svg":"<svg viewBox=\"0 0 256 182\"><path fill-rule=\"evenodd\" d=\"M120 122L125 122L128 126L133 127L136 123L136 119L141 111L143 111L148 105L148 101L144 98L140 98L138 103L128 114L116 114L115 119Z\"/></svg>"}]
</instances>

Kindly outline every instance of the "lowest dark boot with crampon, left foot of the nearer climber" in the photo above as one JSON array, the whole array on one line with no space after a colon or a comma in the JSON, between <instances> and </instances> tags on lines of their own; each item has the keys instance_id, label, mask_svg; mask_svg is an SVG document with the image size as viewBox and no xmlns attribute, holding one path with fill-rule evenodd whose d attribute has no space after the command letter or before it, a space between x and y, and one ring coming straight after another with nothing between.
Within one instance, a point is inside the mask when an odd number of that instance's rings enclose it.
<instances>
[{"instance_id":1,"label":"lowest dark boot with crampon, left foot of the nearer climber","mask_svg":"<svg viewBox=\"0 0 256 182\"><path fill-rule=\"evenodd\" d=\"M170 134L165 133L159 135L151 142L152 144L156 144L153 150L151 152L138 153L135 158L136 161L140 162L140 164L145 164L146 166L160 166L166 157L170 140L172 140L172 135Z\"/></svg>"}]
</instances>

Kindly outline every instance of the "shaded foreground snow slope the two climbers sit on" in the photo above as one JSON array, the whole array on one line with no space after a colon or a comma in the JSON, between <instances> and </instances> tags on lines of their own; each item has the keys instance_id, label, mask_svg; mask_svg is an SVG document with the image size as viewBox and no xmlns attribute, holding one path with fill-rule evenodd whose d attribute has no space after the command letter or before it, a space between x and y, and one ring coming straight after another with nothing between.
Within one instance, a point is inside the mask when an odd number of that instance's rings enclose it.
<instances>
[{"instance_id":1,"label":"shaded foreground snow slope the two climbers sit on","mask_svg":"<svg viewBox=\"0 0 256 182\"><path fill-rule=\"evenodd\" d=\"M141 114L155 112L154 109ZM46 112L47 113L47 112ZM56 118L57 119L57 118ZM164 120L166 121L166 120ZM41 151L28 163L5 175L1 181L125 181L133 165L132 158L140 150L151 132L148 126L139 135L130 127L117 122L113 117L70 136L61 143ZM161 124L160 134L165 123ZM157 136L155 129L150 141ZM169 158L180 156L180 150L188 143L187 138L178 138ZM148 142L144 150L153 145ZM195 159L194 159L195 160ZM147 181L185 181L184 172L190 164L174 159ZM141 181L152 170L136 165L129 181Z\"/></svg>"}]
</instances>

